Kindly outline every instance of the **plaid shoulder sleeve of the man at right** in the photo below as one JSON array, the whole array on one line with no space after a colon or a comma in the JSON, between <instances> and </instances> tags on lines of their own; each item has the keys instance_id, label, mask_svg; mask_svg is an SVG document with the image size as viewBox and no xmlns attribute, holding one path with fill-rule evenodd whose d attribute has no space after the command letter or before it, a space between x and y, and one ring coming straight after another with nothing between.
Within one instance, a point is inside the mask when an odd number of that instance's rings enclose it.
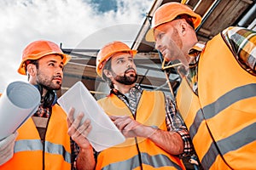
<instances>
[{"instance_id":1,"label":"plaid shoulder sleeve of the man at right","mask_svg":"<svg viewBox=\"0 0 256 170\"><path fill-rule=\"evenodd\" d=\"M247 71L256 71L256 32L242 27L228 27L222 31L224 39Z\"/></svg>"}]
</instances>

